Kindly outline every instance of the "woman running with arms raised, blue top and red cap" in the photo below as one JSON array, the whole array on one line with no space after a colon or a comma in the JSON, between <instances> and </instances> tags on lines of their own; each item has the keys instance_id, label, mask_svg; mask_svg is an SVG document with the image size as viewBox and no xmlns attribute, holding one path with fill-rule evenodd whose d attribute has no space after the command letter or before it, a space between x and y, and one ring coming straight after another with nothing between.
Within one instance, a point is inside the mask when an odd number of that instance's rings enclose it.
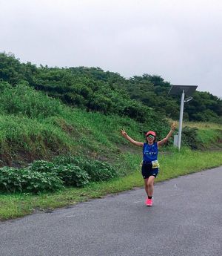
<instances>
[{"instance_id":1,"label":"woman running with arms raised, blue top and red cap","mask_svg":"<svg viewBox=\"0 0 222 256\"><path fill-rule=\"evenodd\" d=\"M142 165L142 175L144 178L145 191L147 193L147 200L145 201L147 206L152 206L154 180L158 175L158 147L164 145L169 140L169 137L171 137L173 131L175 131L175 127L175 123L172 123L169 134L167 134L163 140L158 142L155 141L155 131L148 131L146 134L145 143L133 140L131 137L129 137L126 131L124 131L124 129L121 130L122 136L129 140L129 142L134 145L138 145L139 147L143 147L144 158Z\"/></svg>"}]
</instances>

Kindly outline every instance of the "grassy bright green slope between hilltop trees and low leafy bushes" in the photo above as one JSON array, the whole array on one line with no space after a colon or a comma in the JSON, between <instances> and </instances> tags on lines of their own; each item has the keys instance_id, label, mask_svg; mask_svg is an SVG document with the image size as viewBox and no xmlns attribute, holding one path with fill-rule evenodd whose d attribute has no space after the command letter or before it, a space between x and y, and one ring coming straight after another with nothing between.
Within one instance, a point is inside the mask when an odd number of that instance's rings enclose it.
<instances>
[{"instance_id":1,"label":"grassy bright green slope between hilltop trees and low leafy bushes","mask_svg":"<svg viewBox=\"0 0 222 256\"><path fill-rule=\"evenodd\" d=\"M69 108L58 99L30 88L24 81L13 88L7 82L0 82L0 91L1 153L12 160L19 151L34 158L47 158L52 152L64 151L73 154L89 151L110 158L110 153L118 154L116 144L126 143L121 128L135 140L144 140L142 131L150 125L140 125L128 117ZM160 129L158 125L156 128Z\"/></svg>"}]
</instances>

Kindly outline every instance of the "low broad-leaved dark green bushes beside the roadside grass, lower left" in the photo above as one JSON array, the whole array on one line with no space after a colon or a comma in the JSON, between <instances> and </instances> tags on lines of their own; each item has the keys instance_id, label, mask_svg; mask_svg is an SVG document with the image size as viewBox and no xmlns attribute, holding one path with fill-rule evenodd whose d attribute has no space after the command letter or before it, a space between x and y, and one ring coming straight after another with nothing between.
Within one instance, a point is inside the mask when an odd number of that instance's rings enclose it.
<instances>
[{"instance_id":1,"label":"low broad-leaved dark green bushes beside the roadside grass, lower left","mask_svg":"<svg viewBox=\"0 0 222 256\"><path fill-rule=\"evenodd\" d=\"M108 163L81 157L58 157L54 162L34 161L27 168L0 168L0 191L56 191L64 186L81 187L90 181L110 180L118 173Z\"/></svg>"}]
</instances>

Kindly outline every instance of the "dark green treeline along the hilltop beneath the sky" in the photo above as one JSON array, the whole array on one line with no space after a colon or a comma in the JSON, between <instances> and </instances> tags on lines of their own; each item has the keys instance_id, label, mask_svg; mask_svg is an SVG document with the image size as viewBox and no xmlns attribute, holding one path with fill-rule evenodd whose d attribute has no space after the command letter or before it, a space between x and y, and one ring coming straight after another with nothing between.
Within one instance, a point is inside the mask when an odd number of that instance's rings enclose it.
<instances>
[{"instance_id":1,"label":"dark green treeline along the hilltop beneath the sky","mask_svg":"<svg viewBox=\"0 0 222 256\"><path fill-rule=\"evenodd\" d=\"M171 87L161 76L125 79L101 68L49 68L21 63L13 54L0 53L0 82L12 87L21 82L68 105L87 111L129 116L139 122L163 116L178 119L180 96L169 96ZM184 106L184 119L222 123L222 100L196 91ZM157 117L158 116L158 117Z\"/></svg>"}]
</instances>

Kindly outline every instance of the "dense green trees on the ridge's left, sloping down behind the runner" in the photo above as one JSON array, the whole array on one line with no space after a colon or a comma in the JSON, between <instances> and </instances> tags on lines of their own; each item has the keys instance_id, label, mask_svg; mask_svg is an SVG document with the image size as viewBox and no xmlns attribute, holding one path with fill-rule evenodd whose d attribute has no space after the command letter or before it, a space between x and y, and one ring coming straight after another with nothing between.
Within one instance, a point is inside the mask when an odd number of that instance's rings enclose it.
<instances>
[{"instance_id":1,"label":"dense green trees on the ridge's left, sloping down behind the runner","mask_svg":"<svg viewBox=\"0 0 222 256\"><path fill-rule=\"evenodd\" d=\"M150 108L130 99L127 91L115 86L115 77L124 81L121 76L110 73L112 82L107 82L104 75L107 73L98 68L37 68L0 53L0 79L11 86L25 81L49 96L88 111L129 116L141 122L153 116Z\"/></svg>"}]
</instances>

